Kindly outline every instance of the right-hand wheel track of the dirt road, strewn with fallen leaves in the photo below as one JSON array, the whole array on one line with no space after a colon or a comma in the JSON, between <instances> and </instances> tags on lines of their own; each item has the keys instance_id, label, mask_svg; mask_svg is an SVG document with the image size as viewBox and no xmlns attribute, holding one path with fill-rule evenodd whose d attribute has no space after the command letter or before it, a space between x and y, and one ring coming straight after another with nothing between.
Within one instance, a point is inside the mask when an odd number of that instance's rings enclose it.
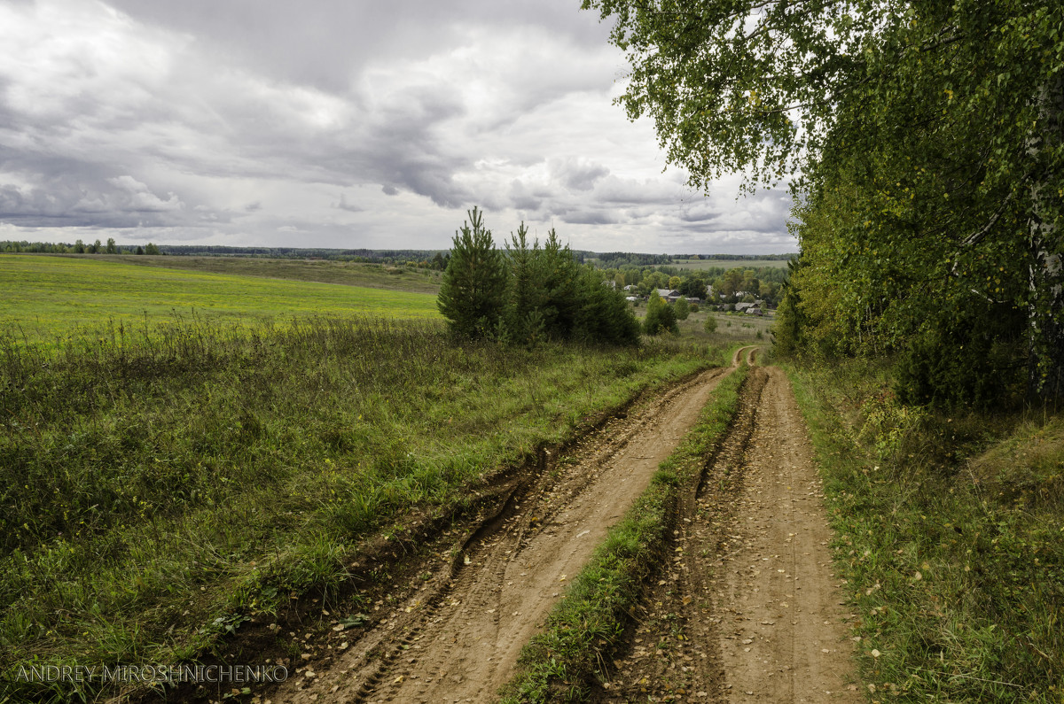
<instances>
[{"instance_id":1,"label":"right-hand wheel track of the dirt road, strewn with fallen leaves","mask_svg":"<svg viewBox=\"0 0 1064 704\"><path fill-rule=\"evenodd\" d=\"M789 384L752 369L680 501L672 556L599 702L857 702L820 479Z\"/></svg>"}]
</instances>

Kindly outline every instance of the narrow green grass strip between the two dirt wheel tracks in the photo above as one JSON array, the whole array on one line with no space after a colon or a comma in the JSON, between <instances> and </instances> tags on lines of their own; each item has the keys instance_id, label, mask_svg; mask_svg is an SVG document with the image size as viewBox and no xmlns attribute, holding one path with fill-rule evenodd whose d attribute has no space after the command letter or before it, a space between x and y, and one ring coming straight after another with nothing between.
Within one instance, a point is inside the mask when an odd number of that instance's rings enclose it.
<instances>
[{"instance_id":1,"label":"narrow green grass strip between the two dirt wheel tracks","mask_svg":"<svg viewBox=\"0 0 1064 704\"><path fill-rule=\"evenodd\" d=\"M683 442L595 550L551 611L545 632L521 652L504 702L579 701L586 694L587 681L617 643L627 613L661 561L682 487L698 481L738 409L746 373L744 363L720 382Z\"/></svg>"}]
</instances>

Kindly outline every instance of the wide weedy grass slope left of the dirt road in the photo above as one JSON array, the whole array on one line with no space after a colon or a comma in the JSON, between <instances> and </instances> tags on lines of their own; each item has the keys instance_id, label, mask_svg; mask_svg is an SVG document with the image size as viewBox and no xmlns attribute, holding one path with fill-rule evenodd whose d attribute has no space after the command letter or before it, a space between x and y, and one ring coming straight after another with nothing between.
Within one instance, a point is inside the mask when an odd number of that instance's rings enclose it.
<instances>
[{"instance_id":1,"label":"wide weedy grass slope left of the dirt road","mask_svg":"<svg viewBox=\"0 0 1064 704\"><path fill-rule=\"evenodd\" d=\"M449 510L500 466L708 348L455 346L429 323L199 320L92 349L0 348L0 701L20 664L194 658L360 541ZM5 691L6 690L6 691Z\"/></svg>"}]
</instances>

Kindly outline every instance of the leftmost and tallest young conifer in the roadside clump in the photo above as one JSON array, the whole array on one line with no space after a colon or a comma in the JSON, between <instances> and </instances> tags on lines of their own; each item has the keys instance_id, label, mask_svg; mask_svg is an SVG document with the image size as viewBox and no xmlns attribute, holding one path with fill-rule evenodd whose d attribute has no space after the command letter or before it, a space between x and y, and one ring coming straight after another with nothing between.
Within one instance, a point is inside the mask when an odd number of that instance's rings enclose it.
<instances>
[{"instance_id":1,"label":"leftmost and tallest young conifer in the roadside clump","mask_svg":"<svg viewBox=\"0 0 1064 704\"><path fill-rule=\"evenodd\" d=\"M502 320L508 271L492 231L484 229L484 214L475 207L468 215L468 222L454 233L436 305L453 334L479 338Z\"/></svg>"}]
</instances>

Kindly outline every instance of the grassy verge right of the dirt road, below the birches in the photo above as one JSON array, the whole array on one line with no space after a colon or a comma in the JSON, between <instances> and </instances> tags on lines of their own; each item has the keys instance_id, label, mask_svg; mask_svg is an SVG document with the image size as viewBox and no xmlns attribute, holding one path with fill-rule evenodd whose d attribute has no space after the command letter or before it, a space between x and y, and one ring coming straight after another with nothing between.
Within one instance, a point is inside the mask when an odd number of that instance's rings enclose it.
<instances>
[{"instance_id":1,"label":"grassy verge right of the dirt road, below the birches","mask_svg":"<svg viewBox=\"0 0 1064 704\"><path fill-rule=\"evenodd\" d=\"M870 701L1064 701L1064 422L899 405L862 363L788 369Z\"/></svg>"}]
</instances>

